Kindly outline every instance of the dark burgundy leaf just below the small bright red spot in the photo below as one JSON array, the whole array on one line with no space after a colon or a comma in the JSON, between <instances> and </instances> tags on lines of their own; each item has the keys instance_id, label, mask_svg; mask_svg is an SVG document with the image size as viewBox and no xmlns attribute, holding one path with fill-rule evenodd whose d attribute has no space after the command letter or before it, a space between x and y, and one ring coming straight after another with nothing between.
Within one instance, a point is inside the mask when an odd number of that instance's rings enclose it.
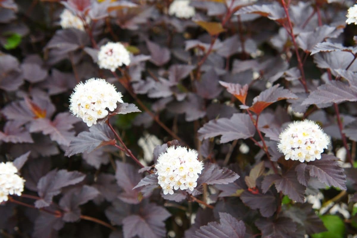
<instances>
[{"instance_id":1,"label":"dark burgundy leaf just below the small bright red spot","mask_svg":"<svg viewBox=\"0 0 357 238\"><path fill-rule=\"evenodd\" d=\"M263 217L271 217L277 209L277 198L272 192L254 194L244 191L240 196L242 202L252 209L259 209Z\"/></svg>"}]
</instances>

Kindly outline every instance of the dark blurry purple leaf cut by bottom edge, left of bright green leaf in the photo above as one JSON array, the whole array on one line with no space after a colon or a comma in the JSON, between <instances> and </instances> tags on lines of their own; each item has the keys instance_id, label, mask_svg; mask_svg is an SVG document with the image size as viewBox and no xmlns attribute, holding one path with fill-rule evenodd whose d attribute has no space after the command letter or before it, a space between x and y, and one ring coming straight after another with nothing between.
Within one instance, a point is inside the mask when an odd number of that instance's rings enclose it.
<instances>
[{"instance_id":1,"label":"dark blurry purple leaf cut by bottom edge, left of bright green leaf","mask_svg":"<svg viewBox=\"0 0 357 238\"><path fill-rule=\"evenodd\" d=\"M276 220L260 218L255 225L262 232L262 238L291 238L296 232L296 224L286 217L279 217Z\"/></svg>"}]
</instances>

